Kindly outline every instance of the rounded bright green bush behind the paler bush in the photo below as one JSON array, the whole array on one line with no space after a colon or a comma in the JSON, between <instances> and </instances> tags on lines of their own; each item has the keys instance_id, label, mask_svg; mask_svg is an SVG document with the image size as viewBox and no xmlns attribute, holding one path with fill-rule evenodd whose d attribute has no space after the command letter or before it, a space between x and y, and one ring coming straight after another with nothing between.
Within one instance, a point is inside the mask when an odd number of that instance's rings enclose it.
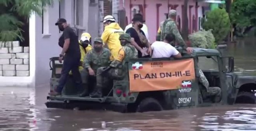
<instances>
[{"instance_id":1,"label":"rounded bright green bush behind the paler bush","mask_svg":"<svg viewBox=\"0 0 256 131\"><path fill-rule=\"evenodd\" d=\"M230 19L225 9L216 8L206 15L206 21L202 24L203 29L212 29L215 42L219 44L227 37L230 31Z\"/></svg>"}]
</instances>

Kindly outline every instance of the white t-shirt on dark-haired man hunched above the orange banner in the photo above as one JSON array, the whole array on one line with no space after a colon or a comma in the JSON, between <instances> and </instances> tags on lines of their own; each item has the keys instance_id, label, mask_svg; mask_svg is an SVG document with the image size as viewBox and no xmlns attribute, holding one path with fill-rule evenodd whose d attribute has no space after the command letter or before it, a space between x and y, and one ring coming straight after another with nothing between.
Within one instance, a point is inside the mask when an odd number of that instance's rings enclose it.
<instances>
[{"instance_id":1,"label":"white t-shirt on dark-haired man hunched above the orange banner","mask_svg":"<svg viewBox=\"0 0 256 131\"><path fill-rule=\"evenodd\" d=\"M173 55L179 54L178 50L175 49L175 47L163 41L154 42L151 45L151 48L153 50L152 58L171 57Z\"/></svg>"}]
</instances>

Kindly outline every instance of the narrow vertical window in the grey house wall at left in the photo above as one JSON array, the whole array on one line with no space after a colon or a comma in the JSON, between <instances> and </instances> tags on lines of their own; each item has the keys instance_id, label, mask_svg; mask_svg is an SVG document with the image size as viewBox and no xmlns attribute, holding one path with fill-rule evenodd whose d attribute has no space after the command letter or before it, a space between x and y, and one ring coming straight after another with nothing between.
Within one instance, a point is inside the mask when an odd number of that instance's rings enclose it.
<instances>
[{"instance_id":1,"label":"narrow vertical window in the grey house wall at left","mask_svg":"<svg viewBox=\"0 0 256 131\"><path fill-rule=\"evenodd\" d=\"M49 12L47 7L42 10L42 34L49 34Z\"/></svg>"}]
</instances>

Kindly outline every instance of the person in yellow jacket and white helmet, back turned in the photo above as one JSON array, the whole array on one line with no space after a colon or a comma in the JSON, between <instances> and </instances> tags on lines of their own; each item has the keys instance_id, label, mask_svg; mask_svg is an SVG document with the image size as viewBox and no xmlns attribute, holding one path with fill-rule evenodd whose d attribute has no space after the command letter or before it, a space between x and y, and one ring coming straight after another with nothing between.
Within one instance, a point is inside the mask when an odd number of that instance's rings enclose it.
<instances>
[{"instance_id":1,"label":"person in yellow jacket and white helmet, back turned","mask_svg":"<svg viewBox=\"0 0 256 131\"><path fill-rule=\"evenodd\" d=\"M101 35L103 45L111 52L110 60L114 60L118 56L119 49L122 47L119 41L119 36L124 34L124 30L116 23L116 19L112 15L107 15L103 20L104 32Z\"/></svg>"}]
</instances>

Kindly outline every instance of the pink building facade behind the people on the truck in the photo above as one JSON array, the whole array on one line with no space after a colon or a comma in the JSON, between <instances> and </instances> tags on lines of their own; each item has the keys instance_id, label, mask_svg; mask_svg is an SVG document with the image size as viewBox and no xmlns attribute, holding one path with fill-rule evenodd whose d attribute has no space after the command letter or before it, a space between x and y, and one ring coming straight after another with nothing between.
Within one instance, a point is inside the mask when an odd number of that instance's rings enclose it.
<instances>
[{"instance_id":1,"label":"pink building facade behind the people on the truck","mask_svg":"<svg viewBox=\"0 0 256 131\"><path fill-rule=\"evenodd\" d=\"M123 3L124 2L124 3ZM179 29L182 28L182 8L183 0L123 0L121 4L126 10L126 24L130 24L133 14L141 13L144 15L148 27L150 41L155 41L157 29L170 9L177 11L176 21ZM187 14L189 20L189 33L200 29L200 18L209 10L209 3L189 0Z\"/></svg>"}]
</instances>

